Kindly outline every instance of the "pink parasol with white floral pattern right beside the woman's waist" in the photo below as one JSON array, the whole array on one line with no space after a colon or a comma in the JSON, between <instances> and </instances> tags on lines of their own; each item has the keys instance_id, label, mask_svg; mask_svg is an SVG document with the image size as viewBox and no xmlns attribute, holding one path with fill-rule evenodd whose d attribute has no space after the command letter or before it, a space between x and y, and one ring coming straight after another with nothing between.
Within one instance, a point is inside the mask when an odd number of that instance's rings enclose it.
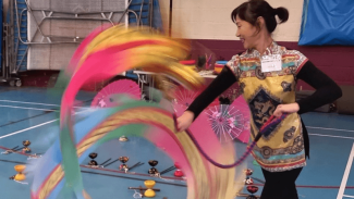
<instances>
[{"instance_id":1,"label":"pink parasol with white floral pattern right beside the woman's waist","mask_svg":"<svg viewBox=\"0 0 354 199\"><path fill-rule=\"evenodd\" d=\"M235 138L242 142L248 142L249 109L242 97L235 99L230 105L209 107L206 113L220 142L231 141Z\"/></svg>"}]
</instances>

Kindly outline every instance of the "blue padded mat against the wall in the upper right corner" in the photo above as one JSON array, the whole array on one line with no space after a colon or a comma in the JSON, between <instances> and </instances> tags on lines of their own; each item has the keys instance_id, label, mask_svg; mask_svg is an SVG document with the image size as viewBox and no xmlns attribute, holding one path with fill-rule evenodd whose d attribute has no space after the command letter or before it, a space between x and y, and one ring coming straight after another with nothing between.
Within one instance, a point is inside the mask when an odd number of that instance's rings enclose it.
<instances>
[{"instance_id":1,"label":"blue padded mat against the wall in the upper right corner","mask_svg":"<svg viewBox=\"0 0 354 199\"><path fill-rule=\"evenodd\" d=\"M300 46L354 46L354 0L304 0Z\"/></svg>"}]
</instances>

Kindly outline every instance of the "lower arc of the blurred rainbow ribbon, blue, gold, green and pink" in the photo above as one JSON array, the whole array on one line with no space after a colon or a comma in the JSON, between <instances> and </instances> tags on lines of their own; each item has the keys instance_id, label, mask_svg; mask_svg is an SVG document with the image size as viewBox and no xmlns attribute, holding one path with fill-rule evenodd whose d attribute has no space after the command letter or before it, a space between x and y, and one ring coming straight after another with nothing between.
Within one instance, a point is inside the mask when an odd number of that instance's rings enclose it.
<instances>
[{"instance_id":1,"label":"lower arc of the blurred rainbow ribbon, blue, gold, green and pink","mask_svg":"<svg viewBox=\"0 0 354 199\"><path fill-rule=\"evenodd\" d=\"M180 111L183 108L180 109ZM204 120L207 115L200 115ZM173 114L159 104L145 101L122 103L119 108L97 109L90 116L74 126L75 149L71 151L77 157L77 163L97 147L117 139L122 135L142 136L163 150L180 163L187 181L187 199L231 199L234 196L233 179L235 170L219 169L209 163L196 149L185 132L175 134ZM193 127L192 127L193 129ZM203 134L203 135L202 135ZM202 147L215 160L231 163L234 161L232 148L222 148L212 130L194 130ZM32 186L33 199L54 199L62 188L68 186L68 171L77 171L80 167L63 170L62 161L66 158L61 153L60 140L39 160L34 173ZM228 151L228 152L227 152ZM80 181L82 181L80 178ZM78 183L78 182L76 182ZM66 185L66 186L65 186ZM76 190L77 198L88 198L84 189Z\"/></svg>"}]
</instances>

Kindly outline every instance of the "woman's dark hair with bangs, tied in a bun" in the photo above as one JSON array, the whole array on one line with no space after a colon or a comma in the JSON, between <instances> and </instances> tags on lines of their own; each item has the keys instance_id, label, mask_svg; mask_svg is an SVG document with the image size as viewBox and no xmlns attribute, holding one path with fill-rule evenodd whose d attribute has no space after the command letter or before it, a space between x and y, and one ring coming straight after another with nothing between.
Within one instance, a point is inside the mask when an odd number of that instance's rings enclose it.
<instances>
[{"instance_id":1,"label":"woman's dark hair with bangs, tied in a bun","mask_svg":"<svg viewBox=\"0 0 354 199\"><path fill-rule=\"evenodd\" d=\"M235 8L231 13L231 20L235 23L236 16L243 21L259 28L257 18L259 16L265 18L266 26L269 33L272 33L277 27L276 15L278 15L280 23L284 23L289 18L289 12L285 8L280 7L273 9L265 0L249 0Z\"/></svg>"}]
</instances>

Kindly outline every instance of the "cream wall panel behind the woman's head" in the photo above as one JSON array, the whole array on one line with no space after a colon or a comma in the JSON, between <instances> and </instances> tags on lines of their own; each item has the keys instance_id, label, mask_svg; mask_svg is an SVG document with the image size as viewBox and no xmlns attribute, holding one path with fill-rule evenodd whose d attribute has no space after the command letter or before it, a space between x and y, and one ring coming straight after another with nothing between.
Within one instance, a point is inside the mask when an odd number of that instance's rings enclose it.
<instances>
[{"instance_id":1,"label":"cream wall panel behind the woman's head","mask_svg":"<svg viewBox=\"0 0 354 199\"><path fill-rule=\"evenodd\" d=\"M170 0L160 0L169 4ZM237 27L231 21L231 12L246 0L173 0L172 36L188 39L236 40ZM273 8L284 7L290 17L277 27L273 38L277 41L297 41L303 0L268 0ZM164 10L163 10L164 9ZM162 8L163 13L168 9ZM164 17L164 22L168 18Z\"/></svg>"}]
</instances>

